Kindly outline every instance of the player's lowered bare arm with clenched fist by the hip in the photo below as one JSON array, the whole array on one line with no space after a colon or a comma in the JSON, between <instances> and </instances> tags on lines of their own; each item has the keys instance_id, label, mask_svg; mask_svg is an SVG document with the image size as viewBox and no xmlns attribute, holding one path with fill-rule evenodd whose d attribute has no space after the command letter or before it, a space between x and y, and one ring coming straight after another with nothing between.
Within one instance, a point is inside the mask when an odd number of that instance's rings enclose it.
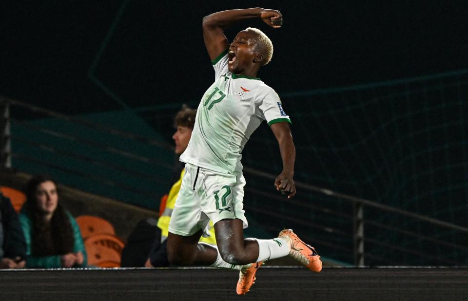
<instances>
[{"instance_id":1,"label":"player's lowered bare arm with clenched fist by the hip","mask_svg":"<svg viewBox=\"0 0 468 301\"><path fill-rule=\"evenodd\" d=\"M291 199L296 194L296 185L292 177L294 176L294 162L296 160L296 148L292 142L292 134L287 122L273 123L272 131L278 140L281 159L283 160L283 171L274 180L276 190L287 194Z\"/></svg>"}]
</instances>

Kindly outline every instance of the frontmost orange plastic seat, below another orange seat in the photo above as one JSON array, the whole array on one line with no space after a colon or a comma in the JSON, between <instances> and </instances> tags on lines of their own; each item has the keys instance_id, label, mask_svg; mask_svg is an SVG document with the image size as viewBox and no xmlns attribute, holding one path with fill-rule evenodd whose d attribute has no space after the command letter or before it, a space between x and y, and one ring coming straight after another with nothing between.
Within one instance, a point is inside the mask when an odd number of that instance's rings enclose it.
<instances>
[{"instance_id":1,"label":"frontmost orange plastic seat, below another orange seat","mask_svg":"<svg viewBox=\"0 0 468 301\"><path fill-rule=\"evenodd\" d=\"M119 267L124 242L115 235L96 234L84 241L88 264L99 267Z\"/></svg>"}]
</instances>

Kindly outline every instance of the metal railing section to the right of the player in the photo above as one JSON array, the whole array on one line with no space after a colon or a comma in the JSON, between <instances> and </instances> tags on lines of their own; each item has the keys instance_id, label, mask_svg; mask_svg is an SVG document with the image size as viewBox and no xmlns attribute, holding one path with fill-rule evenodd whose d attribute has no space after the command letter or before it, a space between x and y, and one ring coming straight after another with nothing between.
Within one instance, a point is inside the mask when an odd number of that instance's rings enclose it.
<instances>
[{"instance_id":1,"label":"metal railing section to the right of the player","mask_svg":"<svg viewBox=\"0 0 468 301\"><path fill-rule=\"evenodd\" d=\"M258 171L255 169L250 169L250 168L244 168L244 174L246 175L246 177L248 175L251 175L254 177L265 178L265 179L271 180L271 183L273 183L276 177L273 174ZM304 198L301 196L297 197L297 198L300 198L299 200L290 200L290 199L287 199L281 196L276 196L273 193L268 193L266 191L262 191L259 189L253 189L253 188L247 187L246 191L254 195L260 196L263 199L268 199L269 202L271 202L273 199L277 199L279 202L286 203L291 206L312 209L314 211L320 212L320 214L323 214L323 215L330 215L334 217L347 219L349 221L348 225L350 225L349 229L351 231L346 231L346 230L343 231L343 229L341 229L340 227L336 225L329 225L325 223L313 224L304 219L302 219L301 221L294 221L294 217L290 218L289 221L287 220L287 222L296 222L295 224L298 226L301 224L305 225L307 227L307 229L305 229L306 233L307 232L317 233L318 231L321 231L321 232L330 233L331 236L345 236L345 237L351 238L349 240L352 242L351 245L332 244L330 242L316 240L314 239L313 234L311 235L309 240L316 241L316 245L322 245L322 246L327 245L331 249L344 251L344 252L348 252L349 254L352 254L353 255L352 263L356 266L364 266L365 258L375 258L377 260L381 260L380 265L385 264L385 262L383 261L384 258L381 258L377 254L370 254L369 252L366 252L366 249L365 249L366 243L380 245L386 248L394 249L400 253L406 253L406 254L419 256L423 259L427 259L430 262L433 262L432 264L434 263L437 265L465 265L466 264L466 262L460 262L460 261L455 261L452 259L444 258L444 254L437 254L437 256L434 256L434 255L431 255L431 254L436 253L433 251L425 252L425 251L419 251L416 249L411 249L408 247L402 247L402 246L398 246L398 244L389 243L389 240L385 240L382 238L375 238L375 237L370 236L369 234L366 235L365 228L367 227L369 229L369 227L373 227L373 228L383 229L388 232L402 234L416 241L424 241L424 242L429 242L431 245L439 245L439 246L448 247L452 250L456 250L457 252L461 254L463 253L466 254L466 252L468 251L468 246L466 245L466 241L453 243L453 242L444 241L442 239L438 239L434 236L424 235L411 228L407 228L404 225L402 226L386 225L385 223L382 223L382 222L373 221L370 218L370 216L366 216L365 212L366 212L366 209L367 210L374 209L379 213L379 215L386 216L387 220L390 220L391 219L390 217L400 216L407 220L412 220L419 224L423 224L423 225L425 224L425 225L437 227L439 231L444 231L445 229L450 230L450 231L455 231L456 233L459 233L462 236L468 233L467 227L454 225L454 224L440 221L440 220L437 220L428 216L423 216L421 214L417 214L414 212L409 212L406 210L402 210L402 209L395 208L395 207L390 207L390 206L380 204L377 202L373 202L370 200L366 200L363 198L354 197L354 196L346 195L343 193L338 193L335 191L331 191L329 189L319 188L310 184L301 183L301 182L296 182L295 184L296 184L296 188L298 189L298 191L299 190L308 191L308 192L316 193L317 195L326 196L326 197L331 198L333 202L336 202L336 203L344 202L344 203L351 204L351 210L350 210L351 214L346 214L344 212L333 210L329 207L324 207L322 204L318 202L314 202L313 204L307 204L307 202L310 202L310 200L307 200L307 198ZM304 203L301 204L301 202L304 202L305 204ZM249 210L262 212L263 214L267 214L268 216L276 218L276 219L285 218L284 216L282 216L281 213L270 212L264 209L258 210L256 208L251 208L251 207L248 207L248 208ZM395 262L390 261L388 263L392 263L394 265L401 265L396 260Z\"/></svg>"}]
</instances>

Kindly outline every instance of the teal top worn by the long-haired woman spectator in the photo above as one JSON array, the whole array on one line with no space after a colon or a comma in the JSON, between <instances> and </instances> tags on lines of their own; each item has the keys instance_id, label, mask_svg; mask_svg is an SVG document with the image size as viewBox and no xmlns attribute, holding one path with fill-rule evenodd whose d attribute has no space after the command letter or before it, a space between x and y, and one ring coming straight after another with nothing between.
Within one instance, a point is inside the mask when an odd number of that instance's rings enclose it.
<instances>
[{"instance_id":1,"label":"teal top worn by the long-haired woman spectator","mask_svg":"<svg viewBox=\"0 0 468 301\"><path fill-rule=\"evenodd\" d=\"M84 248L83 239L81 238L81 232L79 231L79 227L73 216L68 212L65 213L70 218L70 224L72 225L73 229L73 237L75 241L75 245L73 246L73 252L81 252L83 254L83 264L76 265L75 267L86 267L88 258L86 254L86 249ZM21 228L23 229L24 238L26 240L26 267L30 268L59 268L62 267L60 264L60 255L52 255L52 256L32 256L31 255L31 219L25 212L20 213L20 224Z\"/></svg>"}]
</instances>

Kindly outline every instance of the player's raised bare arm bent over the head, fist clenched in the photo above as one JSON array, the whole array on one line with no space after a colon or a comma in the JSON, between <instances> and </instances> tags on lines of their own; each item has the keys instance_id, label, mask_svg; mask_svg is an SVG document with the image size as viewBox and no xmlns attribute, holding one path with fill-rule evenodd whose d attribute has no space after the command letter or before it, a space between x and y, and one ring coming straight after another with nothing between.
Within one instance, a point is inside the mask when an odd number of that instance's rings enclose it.
<instances>
[{"instance_id":1,"label":"player's raised bare arm bent over the head, fist clenched","mask_svg":"<svg viewBox=\"0 0 468 301\"><path fill-rule=\"evenodd\" d=\"M259 7L225 10L208 15L203 18L203 39L211 60L229 46L224 29L237 20L249 18L261 18L273 28L279 28L283 24L283 16L279 11Z\"/></svg>"}]
</instances>

